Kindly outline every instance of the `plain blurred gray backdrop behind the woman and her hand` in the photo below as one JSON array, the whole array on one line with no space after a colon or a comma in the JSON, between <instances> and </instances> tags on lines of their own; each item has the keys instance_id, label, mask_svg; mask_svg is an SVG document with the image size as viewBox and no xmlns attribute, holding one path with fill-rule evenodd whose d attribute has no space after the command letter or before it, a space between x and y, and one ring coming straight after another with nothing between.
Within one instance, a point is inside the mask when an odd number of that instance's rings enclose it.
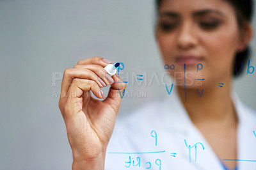
<instances>
[{"instance_id":1,"label":"plain blurred gray backdrop behind the woman and her hand","mask_svg":"<svg viewBox=\"0 0 256 170\"><path fill-rule=\"evenodd\" d=\"M154 16L148 0L0 0L0 169L71 169L58 108L61 80L52 81L52 74L61 75L80 59L124 62L124 81L147 72L146 85L127 87L147 91L147 97L124 98L120 114L166 95L163 84L150 83L152 73L163 73ZM256 66L254 56L253 49ZM254 109L255 76L256 71L234 82L241 100Z\"/></svg>"}]
</instances>

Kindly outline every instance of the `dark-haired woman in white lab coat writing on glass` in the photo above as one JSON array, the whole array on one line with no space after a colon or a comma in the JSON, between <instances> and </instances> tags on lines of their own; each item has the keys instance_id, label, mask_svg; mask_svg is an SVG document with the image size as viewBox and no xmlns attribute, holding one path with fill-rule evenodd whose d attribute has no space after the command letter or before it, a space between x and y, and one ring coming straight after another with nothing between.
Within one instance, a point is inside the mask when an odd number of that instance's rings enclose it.
<instances>
[{"instance_id":1,"label":"dark-haired woman in white lab coat writing on glass","mask_svg":"<svg viewBox=\"0 0 256 170\"><path fill-rule=\"evenodd\" d=\"M159 0L156 4L156 40L164 64L175 65L168 72L177 87L167 99L117 121L111 137L122 100L118 89L123 91L126 85L114 83L120 78L106 73L108 59L84 59L67 68L59 107L72 148L72 169L104 169L106 155L109 169L256 169L252 162L225 160L256 159L256 116L231 90L232 73L240 73L249 54L253 1ZM184 71L185 75L179 73ZM200 86L191 82L199 73L204 78ZM107 85L111 88L104 97L100 88ZM90 90L104 100L92 98ZM108 152L164 152L115 156L107 153L107 146Z\"/></svg>"}]
</instances>

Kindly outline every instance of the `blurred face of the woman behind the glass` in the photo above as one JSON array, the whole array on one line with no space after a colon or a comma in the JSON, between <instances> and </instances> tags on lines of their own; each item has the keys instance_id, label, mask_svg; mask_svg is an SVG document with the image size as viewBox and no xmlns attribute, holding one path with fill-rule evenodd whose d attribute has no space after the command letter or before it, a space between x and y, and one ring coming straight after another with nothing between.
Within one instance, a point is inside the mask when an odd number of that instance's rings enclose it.
<instances>
[{"instance_id":1,"label":"blurred face of the woman behind the glass","mask_svg":"<svg viewBox=\"0 0 256 170\"><path fill-rule=\"evenodd\" d=\"M156 37L177 85L184 85L184 64L187 88L231 81L241 42L231 4L223 0L163 0Z\"/></svg>"}]
</instances>

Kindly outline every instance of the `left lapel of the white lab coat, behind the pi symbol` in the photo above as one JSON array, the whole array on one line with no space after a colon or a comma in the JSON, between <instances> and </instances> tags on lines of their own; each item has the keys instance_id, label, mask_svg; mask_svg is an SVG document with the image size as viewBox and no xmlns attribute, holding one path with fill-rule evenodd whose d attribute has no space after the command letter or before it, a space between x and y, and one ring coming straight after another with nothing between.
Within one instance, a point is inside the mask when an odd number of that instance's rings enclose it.
<instances>
[{"instance_id":1,"label":"left lapel of the white lab coat, behind the pi symbol","mask_svg":"<svg viewBox=\"0 0 256 170\"><path fill-rule=\"evenodd\" d=\"M199 130L191 122L186 109L184 109L182 103L180 102L179 95L177 94L177 88L172 91L172 96L168 97L166 100L169 104L166 105L166 118L165 121L168 125L168 128L171 132L177 132L184 135L184 140L187 144L191 146L191 162L189 162L189 149L184 141L184 150L187 154L184 155L185 160L188 160L189 164L192 164L196 169L214 169L214 170L223 170L221 166L220 159L216 156L211 146L204 139L203 135L200 134ZM170 108L170 103L175 103L175 108ZM171 123L170 123L171 122ZM195 144L202 143L204 150L201 144L197 144L197 158L195 161ZM194 148L192 148L194 146Z\"/></svg>"}]
</instances>

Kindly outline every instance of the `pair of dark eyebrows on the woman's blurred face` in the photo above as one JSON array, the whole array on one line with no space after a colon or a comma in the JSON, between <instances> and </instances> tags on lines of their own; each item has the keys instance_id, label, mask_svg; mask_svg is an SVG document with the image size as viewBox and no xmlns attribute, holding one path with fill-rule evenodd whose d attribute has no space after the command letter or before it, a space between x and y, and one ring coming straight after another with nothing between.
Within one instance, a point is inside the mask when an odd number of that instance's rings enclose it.
<instances>
[{"instance_id":1,"label":"pair of dark eyebrows on the woman's blurred face","mask_svg":"<svg viewBox=\"0 0 256 170\"><path fill-rule=\"evenodd\" d=\"M217 10L201 10L201 11L193 12L192 15L194 17L200 17L200 16L207 15L209 13L216 13L218 15L224 16L223 13L221 13ZM168 17L173 17L173 18L180 17L179 13L175 13L175 12L162 12L162 13L160 13L160 16L168 16Z\"/></svg>"}]
</instances>

